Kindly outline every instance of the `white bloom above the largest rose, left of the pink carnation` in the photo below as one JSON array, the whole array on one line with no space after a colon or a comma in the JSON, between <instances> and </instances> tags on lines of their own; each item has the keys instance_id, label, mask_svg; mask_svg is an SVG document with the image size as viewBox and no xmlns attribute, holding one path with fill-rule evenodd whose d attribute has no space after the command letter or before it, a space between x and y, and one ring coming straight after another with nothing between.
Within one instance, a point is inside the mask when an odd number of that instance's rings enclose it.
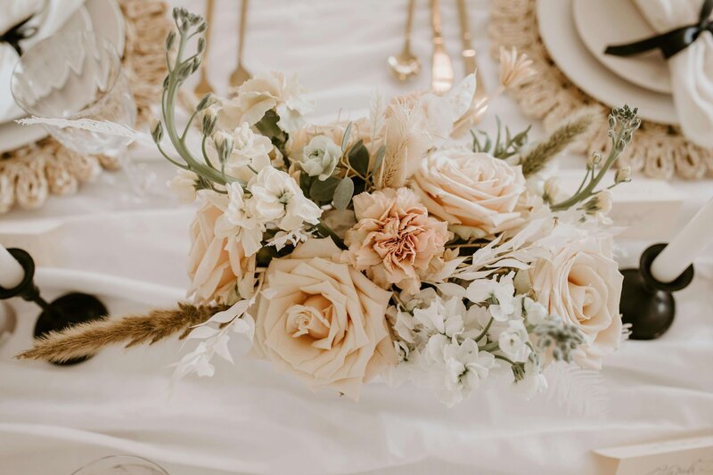
<instances>
[{"instance_id":1,"label":"white bloom above the largest rose, left of the pink carnation","mask_svg":"<svg viewBox=\"0 0 713 475\"><path fill-rule=\"evenodd\" d=\"M262 223L274 222L283 231L304 223L316 225L322 216L322 209L307 199L294 178L275 168L261 169L250 179L248 190L252 193L248 203L252 216Z\"/></svg>"}]
</instances>

